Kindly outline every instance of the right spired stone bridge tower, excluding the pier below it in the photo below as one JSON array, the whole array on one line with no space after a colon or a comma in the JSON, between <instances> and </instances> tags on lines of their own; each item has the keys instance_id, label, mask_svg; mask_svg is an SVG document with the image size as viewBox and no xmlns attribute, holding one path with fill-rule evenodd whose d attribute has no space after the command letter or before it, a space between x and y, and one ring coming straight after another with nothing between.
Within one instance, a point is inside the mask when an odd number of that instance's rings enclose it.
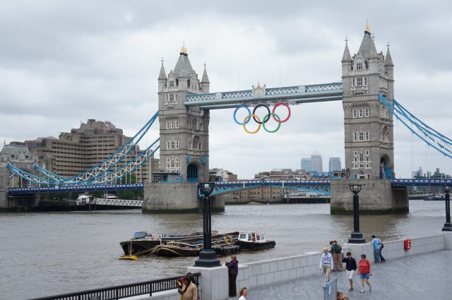
<instances>
[{"instance_id":1,"label":"right spired stone bridge tower, excluding the pier below it","mask_svg":"<svg viewBox=\"0 0 452 300\"><path fill-rule=\"evenodd\" d=\"M394 98L393 62L376 52L366 25L357 54L350 56L347 42L342 59L345 125L345 168L352 178L393 178L393 116L379 94Z\"/></svg>"}]
</instances>

